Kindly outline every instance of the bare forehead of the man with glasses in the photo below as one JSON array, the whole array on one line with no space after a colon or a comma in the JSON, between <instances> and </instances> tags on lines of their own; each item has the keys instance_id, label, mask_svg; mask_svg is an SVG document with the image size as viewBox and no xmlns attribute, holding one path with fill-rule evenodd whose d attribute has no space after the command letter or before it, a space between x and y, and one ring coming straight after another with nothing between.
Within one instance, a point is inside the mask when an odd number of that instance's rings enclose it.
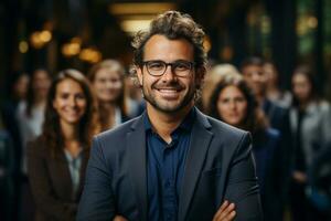
<instances>
[{"instance_id":1,"label":"bare forehead of the man with glasses","mask_svg":"<svg viewBox=\"0 0 331 221\"><path fill-rule=\"evenodd\" d=\"M185 39L170 40L164 35L156 34L145 44L143 60L194 60L193 45Z\"/></svg>"}]
</instances>

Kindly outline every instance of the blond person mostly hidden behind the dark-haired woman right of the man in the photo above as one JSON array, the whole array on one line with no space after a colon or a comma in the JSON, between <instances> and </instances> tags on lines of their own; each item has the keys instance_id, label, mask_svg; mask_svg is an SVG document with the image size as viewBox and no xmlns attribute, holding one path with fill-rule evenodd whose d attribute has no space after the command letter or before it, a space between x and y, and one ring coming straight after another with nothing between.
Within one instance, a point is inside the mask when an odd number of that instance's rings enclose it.
<instances>
[{"instance_id":1,"label":"blond person mostly hidden behind the dark-haired woman right of the man","mask_svg":"<svg viewBox=\"0 0 331 221\"><path fill-rule=\"evenodd\" d=\"M202 109L209 112L211 95L215 90L215 85L224 75L239 74L238 70L232 64L216 64L207 72L204 78L204 86L202 87Z\"/></svg>"}]
</instances>

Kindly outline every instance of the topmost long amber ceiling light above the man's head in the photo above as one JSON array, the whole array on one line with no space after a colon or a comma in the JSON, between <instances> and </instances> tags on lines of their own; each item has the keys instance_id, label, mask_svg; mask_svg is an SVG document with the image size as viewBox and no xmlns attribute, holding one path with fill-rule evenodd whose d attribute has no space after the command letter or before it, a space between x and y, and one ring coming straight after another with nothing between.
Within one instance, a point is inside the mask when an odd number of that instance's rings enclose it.
<instances>
[{"instance_id":1,"label":"topmost long amber ceiling light above the man's head","mask_svg":"<svg viewBox=\"0 0 331 221\"><path fill-rule=\"evenodd\" d=\"M114 15L158 14L175 8L172 2L113 3L109 6L109 12Z\"/></svg>"}]
</instances>

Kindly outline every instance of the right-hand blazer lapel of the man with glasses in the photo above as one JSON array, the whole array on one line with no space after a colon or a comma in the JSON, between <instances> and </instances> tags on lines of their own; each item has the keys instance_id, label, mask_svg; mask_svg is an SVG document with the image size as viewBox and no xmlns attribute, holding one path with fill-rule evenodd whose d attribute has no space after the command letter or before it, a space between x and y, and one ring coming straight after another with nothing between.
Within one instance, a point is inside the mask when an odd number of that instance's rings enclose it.
<instances>
[{"instance_id":1,"label":"right-hand blazer lapel of the man with glasses","mask_svg":"<svg viewBox=\"0 0 331 221\"><path fill-rule=\"evenodd\" d=\"M179 202L179 220L185 220L194 194L204 159L213 134L206 117L196 109L196 119L192 128L191 147L185 161L185 170Z\"/></svg>"}]
</instances>

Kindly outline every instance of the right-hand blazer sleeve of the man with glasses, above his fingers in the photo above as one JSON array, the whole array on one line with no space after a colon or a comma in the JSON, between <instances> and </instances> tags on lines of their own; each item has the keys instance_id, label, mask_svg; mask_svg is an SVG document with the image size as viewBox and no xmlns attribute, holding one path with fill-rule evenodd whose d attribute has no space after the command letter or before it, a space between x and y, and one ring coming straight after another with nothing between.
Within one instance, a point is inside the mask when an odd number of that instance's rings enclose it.
<instances>
[{"instance_id":1,"label":"right-hand blazer sleeve of the man with glasses, above his fingers","mask_svg":"<svg viewBox=\"0 0 331 221\"><path fill-rule=\"evenodd\" d=\"M263 220L249 134L243 136L229 166L225 200L235 203L237 221Z\"/></svg>"}]
</instances>

